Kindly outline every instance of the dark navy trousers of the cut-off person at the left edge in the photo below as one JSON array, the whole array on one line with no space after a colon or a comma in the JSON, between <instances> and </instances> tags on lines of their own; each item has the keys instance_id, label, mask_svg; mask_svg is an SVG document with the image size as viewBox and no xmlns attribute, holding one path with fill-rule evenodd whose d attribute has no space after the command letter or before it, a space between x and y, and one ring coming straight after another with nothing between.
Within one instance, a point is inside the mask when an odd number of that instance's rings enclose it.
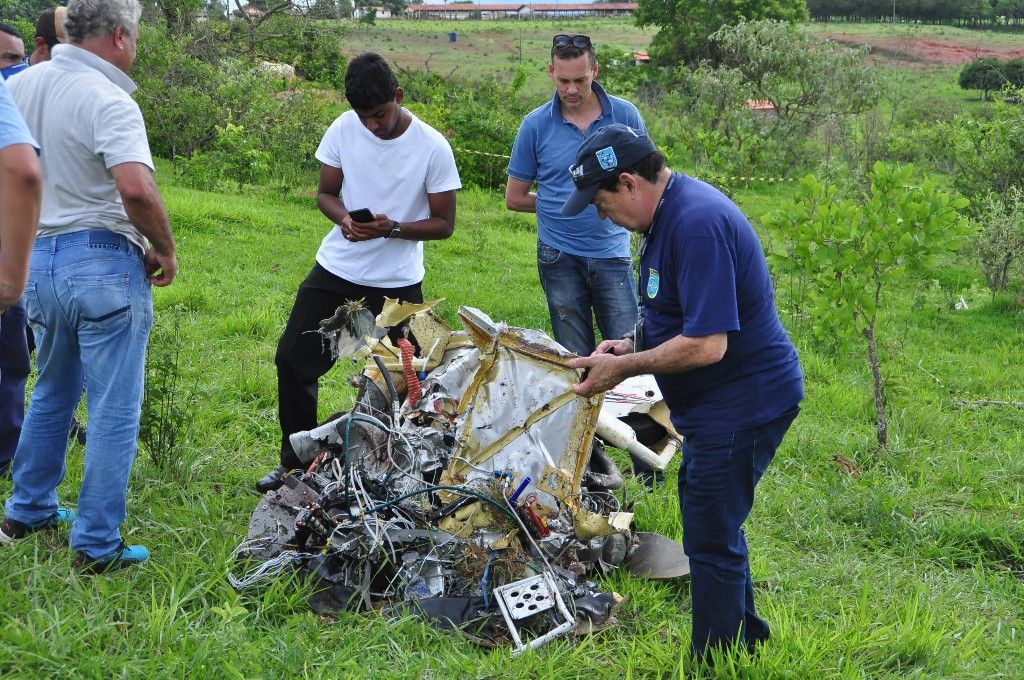
<instances>
[{"instance_id":1,"label":"dark navy trousers of the cut-off person at the left edge","mask_svg":"<svg viewBox=\"0 0 1024 680\"><path fill-rule=\"evenodd\" d=\"M0 470L14 458L25 420L25 383L29 378L29 342L25 305L0 314Z\"/></svg>"}]
</instances>

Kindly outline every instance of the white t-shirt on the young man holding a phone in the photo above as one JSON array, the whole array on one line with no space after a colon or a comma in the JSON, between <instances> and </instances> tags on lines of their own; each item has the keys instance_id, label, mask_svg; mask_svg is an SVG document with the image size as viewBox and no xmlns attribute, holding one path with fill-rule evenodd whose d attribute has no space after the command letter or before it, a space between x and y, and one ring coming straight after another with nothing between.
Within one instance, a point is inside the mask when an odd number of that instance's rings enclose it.
<instances>
[{"instance_id":1,"label":"white t-shirt on the young man holding a phone","mask_svg":"<svg viewBox=\"0 0 1024 680\"><path fill-rule=\"evenodd\" d=\"M407 112L408 113L408 112ZM316 160L340 168L341 201L348 210L368 208L399 222L430 216L428 194L462 186L447 140L413 116L400 136L381 139L347 111L331 124ZM423 242L404 239L346 241L338 225L324 237L316 262L346 281L399 288L423 281Z\"/></svg>"}]
</instances>

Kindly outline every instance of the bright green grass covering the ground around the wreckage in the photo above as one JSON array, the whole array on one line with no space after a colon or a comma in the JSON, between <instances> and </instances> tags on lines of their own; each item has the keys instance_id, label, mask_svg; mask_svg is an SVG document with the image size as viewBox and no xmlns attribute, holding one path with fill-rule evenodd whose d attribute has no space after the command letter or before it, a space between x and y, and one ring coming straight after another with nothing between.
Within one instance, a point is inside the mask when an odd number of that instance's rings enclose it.
<instances>
[{"instance_id":1,"label":"bright green grass covering the ground around the wreckage","mask_svg":"<svg viewBox=\"0 0 1024 680\"><path fill-rule=\"evenodd\" d=\"M756 216L777 188L737 197ZM153 560L82 578L63 532L5 549L0 676L683 677L685 583L613 573L601 581L627 597L617 627L515 660L412 620L321 619L287 583L234 593L224 573L257 500L249 488L276 460L275 341L329 224L308 197L163 189L181 272L156 291L157 315L180 320L182 370L198 392L182 463L160 470L143 453L133 470L124 530ZM548 328L534 245L530 217L507 212L497 193L464 190L455 237L427 245L425 292L447 298L450 321L467 304ZM1024 401L1024 313L987 304L970 262L951 271L970 310L947 311L911 283L881 325L893 439L882 455L871 453L863 349L822 350L790 323L807 399L748 522L774 636L757 658L723 660L719 677L1022 677L1024 411L954 400ZM787 282L778 285L784 299ZM323 415L351 406L352 370L339 365L324 381ZM72 505L81 469L75 444L60 487ZM674 471L654 494L630 487L640 528L680 537L674 487ZM0 497L9 490L0 481Z\"/></svg>"}]
</instances>

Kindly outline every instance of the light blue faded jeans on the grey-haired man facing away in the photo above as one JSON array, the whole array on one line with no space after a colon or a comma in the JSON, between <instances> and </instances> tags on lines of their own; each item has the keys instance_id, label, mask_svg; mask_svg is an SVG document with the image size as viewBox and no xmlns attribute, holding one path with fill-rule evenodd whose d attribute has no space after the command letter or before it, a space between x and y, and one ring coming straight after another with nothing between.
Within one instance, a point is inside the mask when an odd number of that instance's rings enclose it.
<instances>
[{"instance_id":1,"label":"light blue faded jeans on the grey-haired man facing away","mask_svg":"<svg viewBox=\"0 0 1024 680\"><path fill-rule=\"evenodd\" d=\"M91 558L121 543L135 459L153 293L142 253L108 229L36 240L25 291L38 379L14 455L7 517L36 524L57 509L71 419L89 414L71 547Z\"/></svg>"}]
</instances>

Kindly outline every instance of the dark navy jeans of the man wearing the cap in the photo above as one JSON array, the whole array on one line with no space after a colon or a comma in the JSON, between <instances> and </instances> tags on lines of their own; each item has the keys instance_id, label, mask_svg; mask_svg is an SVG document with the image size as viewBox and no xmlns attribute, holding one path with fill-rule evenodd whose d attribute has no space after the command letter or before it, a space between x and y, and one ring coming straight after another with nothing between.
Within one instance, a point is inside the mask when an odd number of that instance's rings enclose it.
<instances>
[{"instance_id":1,"label":"dark navy jeans of the man wearing the cap","mask_svg":"<svg viewBox=\"0 0 1024 680\"><path fill-rule=\"evenodd\" d=\"M739 641L768 639L754 606L754 583L742 524L754 487L775 456L800 407L763 425L724 434L685 434L679 466L683 548L690 558L694 657Z\"/></svg>"}]
</instances>

